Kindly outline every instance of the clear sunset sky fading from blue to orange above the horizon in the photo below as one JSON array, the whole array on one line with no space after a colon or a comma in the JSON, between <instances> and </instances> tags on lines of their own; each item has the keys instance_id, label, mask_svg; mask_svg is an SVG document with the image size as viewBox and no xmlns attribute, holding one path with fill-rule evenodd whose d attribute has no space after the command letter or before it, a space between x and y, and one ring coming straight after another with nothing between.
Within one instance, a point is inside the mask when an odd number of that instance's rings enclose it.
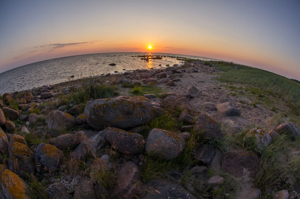
<instances>
[{"instance_id":1,"label":"clear sunset sky fading from blue to orange above the horizon","mask_svg":"<svg viewBox=\"0 0 300 199\"><path fill-rule=\"evenodd\" d=\"M186 54L300 80L300 1L0 1L0 73L106 52Z\"/></svg>"}]
</instances>

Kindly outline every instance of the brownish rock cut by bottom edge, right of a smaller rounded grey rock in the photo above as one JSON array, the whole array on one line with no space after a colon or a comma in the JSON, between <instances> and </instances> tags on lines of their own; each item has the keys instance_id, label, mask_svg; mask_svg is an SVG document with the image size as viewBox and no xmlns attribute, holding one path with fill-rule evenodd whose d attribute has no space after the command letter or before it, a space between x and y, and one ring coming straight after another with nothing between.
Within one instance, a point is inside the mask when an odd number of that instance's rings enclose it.
<instances>
[{"instance_id":1,"label":"brownish rock cut by bottom edge, right of a smaller rounded grey rock","mask_svg":"<svg viewBox=\"0 0 300 199\"><path fill-rule=\"evenodd\" d=\"M98 199L91 180L82 179L76 188L72 199Z\"/></svg>"}]
</instances>

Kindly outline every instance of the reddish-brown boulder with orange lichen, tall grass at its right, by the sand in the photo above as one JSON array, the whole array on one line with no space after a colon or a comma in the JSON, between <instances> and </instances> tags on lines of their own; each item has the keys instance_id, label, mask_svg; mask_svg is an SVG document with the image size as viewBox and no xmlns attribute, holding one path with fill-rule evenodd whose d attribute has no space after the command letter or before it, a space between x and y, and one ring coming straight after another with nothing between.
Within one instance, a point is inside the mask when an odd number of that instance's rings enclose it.
<instances>
[{"instance_id":1,"label":"reddish-brown boulder with orange lichen, tall grass at its right, by the sand","mask_svg":"<svg viewBox=\"0 0 300 199\"><path fill-rule=\"evenodd\" d=\"M196 118L196 132L201 133L205 138L221 139L223 133L217 122L206 114L200 114Z\"/></svg>"}]
</instances>

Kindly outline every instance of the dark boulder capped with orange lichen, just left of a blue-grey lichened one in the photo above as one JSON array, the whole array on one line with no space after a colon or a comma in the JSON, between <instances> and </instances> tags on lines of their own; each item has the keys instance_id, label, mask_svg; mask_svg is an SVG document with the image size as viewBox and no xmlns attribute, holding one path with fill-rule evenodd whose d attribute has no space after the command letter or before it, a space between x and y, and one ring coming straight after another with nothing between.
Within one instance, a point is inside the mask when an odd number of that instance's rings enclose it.
<instances>
[{"instance_id":1,"label":"dark boulder capped with orange lichen, just left of a blue-grey lichened one","mask_svg":"<svg viewBox=\"0 0 300 199\"><path fill-rule=\"evenodd\" d=\"M35 174L35 164L32 161L33 154L28 146L19 142L14 142L8 152L9 170L21 177L27 174Z\"/></svg>"}]
</instances>

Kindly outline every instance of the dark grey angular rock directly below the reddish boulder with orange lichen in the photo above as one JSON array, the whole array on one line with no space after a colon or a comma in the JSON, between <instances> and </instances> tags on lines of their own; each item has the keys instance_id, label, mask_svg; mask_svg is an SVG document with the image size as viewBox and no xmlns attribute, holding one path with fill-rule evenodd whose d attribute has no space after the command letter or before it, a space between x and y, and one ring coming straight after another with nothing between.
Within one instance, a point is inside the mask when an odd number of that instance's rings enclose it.
<instances>
[{"instance_id":1,"label":"dark grey angular rock directly below the reddish boulder with orange lichen","mask_svg":"<svg viewBox=\"0 0 300 199\"><path fill-rule=\"evenodd\" d=\"M215 155L215 148L211 145L199 145L195 148L194 157L205 165L210 165Z\"/></svg>"}]
</instances>

